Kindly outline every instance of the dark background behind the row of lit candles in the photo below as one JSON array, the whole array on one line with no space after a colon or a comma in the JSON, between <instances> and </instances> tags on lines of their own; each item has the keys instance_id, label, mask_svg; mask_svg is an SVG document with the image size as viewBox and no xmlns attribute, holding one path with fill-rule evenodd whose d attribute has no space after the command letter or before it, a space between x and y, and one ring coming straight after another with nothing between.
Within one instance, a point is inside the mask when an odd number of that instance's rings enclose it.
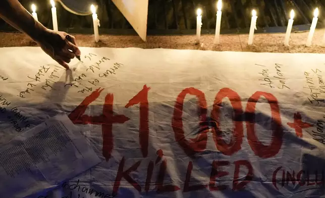
<instances>
[{"instance_id":1,"label":"dark background behind the row of lit candles","mask_svg":"<svg viewBox=\"0 0 325 198\"><path fill-rule=\"evenodd\" d=\"M96 0L100 33L134 34L128 21L111 0ZM49 0L20 0L31 12L37 6L38 20L52 29ZM93 33L92 17L78 16L56 3L59 30L74 33ZM323 27L325 0L223 0L221 33L247 33L252 9L257 10L259 32L285 32L290 10L295 10L294 30L308 30L315 8L319 9L317 28ZM196 9L201 8L202 33L213 33L216 20L215 0L149 0L148 34L194 34ZM0 20L0 31L14 29Z\"/></svg>"}]
</instances>

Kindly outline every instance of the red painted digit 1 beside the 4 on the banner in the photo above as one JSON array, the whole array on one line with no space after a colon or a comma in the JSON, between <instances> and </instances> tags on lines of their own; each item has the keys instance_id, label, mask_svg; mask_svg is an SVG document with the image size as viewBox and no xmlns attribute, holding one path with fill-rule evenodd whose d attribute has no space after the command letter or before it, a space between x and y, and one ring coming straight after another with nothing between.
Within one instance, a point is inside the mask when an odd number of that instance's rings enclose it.
<instances>
[{"instance_id":1,"label":"red painted digit 1 beside the 4 on the banner","mask_svg":"<svg viewBox=\"0 0 325 198\"><path fill-rule=\"evenodd\" d=\"M148 145L149 145L149 102L148 102L148 91L150 87L147 85L143 86L143 89L136 94L125 108L129 108L133 105L140 103L140 126L139 126L139 141L142 156L146 158L148 156Z\"/></svg>"}]
</instances>

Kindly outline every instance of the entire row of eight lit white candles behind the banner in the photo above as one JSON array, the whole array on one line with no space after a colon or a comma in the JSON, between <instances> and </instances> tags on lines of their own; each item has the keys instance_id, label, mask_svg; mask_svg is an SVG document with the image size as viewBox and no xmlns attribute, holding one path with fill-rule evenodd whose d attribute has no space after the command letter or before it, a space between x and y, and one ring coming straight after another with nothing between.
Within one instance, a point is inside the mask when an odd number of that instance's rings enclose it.
<instances>
[{"instance_id":1,"label":"entire row of eight lit white candles behind the banner","mask_svg":"<svg viewBox=\"0 0 325 198\"><path fill-rule=\"evenodd\" d=\"M58 31L58 19L57 19L57 8L55 7L55 2L53 0L50 0L50 3L52 5L52 21L53 21L53 30ZM218 11L216 12L216 24L215 24L215 36L214 36L214 44L219 44L220 43L220 27L221 27L221 9L222 9L222 0L219 0L217 3L217 9ZM92 20L93 20L93 26L94 26L94 35L95 35L95 41L99 41L99 32L98 32L98 26L99 20L96 14L96 8L94 5L90 6L90 10L93 13L92 14ZM32 5L32 15L36 21L38 21L37 14L36 14L36 6L33 4ZM289 38L293 26L293 18L295 16L295 13L293 10L290 12L290 19L288 21L288 27L287 27L287 32L284 40L284 44L289 46ZM315 32L316 24L318 21L318 8L315 9L314 11L314 18L311 23L310 31L308 34L308 38L306 41L306 46L311 45L312 37ZM249 36L248 36L248 44L251 45L253 44L253 38L254 38L254 31L256 28L256 21L257 21L257 16L256 16L256 11L252 11L252 19L251 19L251 24L250 24L250 29L249 29ZM200 42L200 36L201 36L201 26L202 26L202 10L197 9L197 18L196 18L196 41L197 43ZM322 44L325 45L325 35L322 40Z\"/></svg>"}]
</instances>

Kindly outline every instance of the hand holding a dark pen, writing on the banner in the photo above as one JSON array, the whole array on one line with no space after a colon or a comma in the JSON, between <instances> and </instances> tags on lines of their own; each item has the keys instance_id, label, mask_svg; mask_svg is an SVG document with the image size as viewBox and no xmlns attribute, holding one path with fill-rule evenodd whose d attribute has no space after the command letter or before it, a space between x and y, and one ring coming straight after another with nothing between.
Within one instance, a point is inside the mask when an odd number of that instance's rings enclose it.
<instances>
[{"instance_id":1,"label":"hand holding a dark pen, writing on the banner","mask_svg":"<svg viewBox=\"0 0 325 198\"><path fill-rule=\"evenodd\" d=\"M70 35L71 41L69 41L66 39L67 35L66 32L45 29L36 42L48 56L69 69L67 63L70 63L75 56L80 56L81 53L76 45L76 38Z\"/></svg>"}]
</instances>

